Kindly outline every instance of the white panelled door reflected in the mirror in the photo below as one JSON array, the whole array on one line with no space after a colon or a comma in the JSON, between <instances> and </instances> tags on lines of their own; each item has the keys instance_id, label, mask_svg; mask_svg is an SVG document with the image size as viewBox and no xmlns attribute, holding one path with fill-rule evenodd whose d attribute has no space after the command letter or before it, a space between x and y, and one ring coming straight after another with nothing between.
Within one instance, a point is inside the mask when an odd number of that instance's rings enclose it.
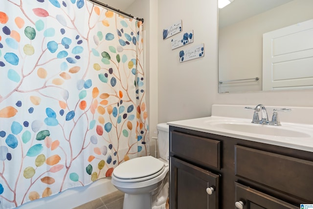
<instances>
[{"instance_id":1,"label":"white panelled door reflected in the mirror","mask_svg":"<svg viewBox=\"0 0 313 209\"><path fill-rule=\"evenodd\" d=\"M263 91L313 88L313 20L263 35Z\"/></svg>"}]
</instances>

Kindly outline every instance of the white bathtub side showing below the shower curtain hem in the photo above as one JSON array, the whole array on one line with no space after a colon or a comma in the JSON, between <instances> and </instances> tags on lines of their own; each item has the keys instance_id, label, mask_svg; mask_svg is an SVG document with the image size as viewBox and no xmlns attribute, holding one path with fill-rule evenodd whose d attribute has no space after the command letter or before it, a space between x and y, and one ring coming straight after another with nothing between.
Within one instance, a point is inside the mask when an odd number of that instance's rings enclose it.
<instances>
[{"instance_id":1,"label":"white bathtub side showing below the shower curtain hem","mask_svg":"<svg viewBox=\"0 0 313 209\"><path fill-rule=\"evenodd\" d=\"M88 186L69 188L59 194L24 203L16 209L71 209L116 190L111 177L107 177Z\"/></svg>"}]
</instances>

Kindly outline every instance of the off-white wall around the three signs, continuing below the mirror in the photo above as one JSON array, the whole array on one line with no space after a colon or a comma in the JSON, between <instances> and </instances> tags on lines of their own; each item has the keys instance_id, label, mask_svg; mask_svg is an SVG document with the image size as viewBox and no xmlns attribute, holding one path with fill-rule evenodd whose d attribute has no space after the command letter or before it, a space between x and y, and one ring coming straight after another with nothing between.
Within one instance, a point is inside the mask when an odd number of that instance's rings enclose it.
<instances>
[{"instance_id":1,"label":"off-white wall around the three signs, continuing below the mirror","mask_svg":"<svg viewBox=\"0 0 313 209\"><path fill-rule=\"evenodd\" d=\"M313 90L219 94L217 12L217 0L158 0L158 122L208 116L212 104L313 107ZM183 31L194 30L193 44L204 43L203 58L179 63L179 49L162 39L180 19Z\"/></svg>"}]
</instances>

